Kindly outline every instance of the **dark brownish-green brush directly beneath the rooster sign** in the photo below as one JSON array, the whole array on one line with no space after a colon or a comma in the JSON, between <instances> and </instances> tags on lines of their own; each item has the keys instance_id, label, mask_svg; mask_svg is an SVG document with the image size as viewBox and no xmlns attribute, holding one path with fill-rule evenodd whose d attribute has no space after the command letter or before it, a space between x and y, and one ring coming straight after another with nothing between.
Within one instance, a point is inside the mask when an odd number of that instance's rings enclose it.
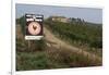
<instances>
[{"instance_id":1,"label":"dark brownish-green brush directly beneath the rooster sign","mask_svg":"<svg viewBox=\"0 0 109 75\"><path fill-rule=\"evenodd\" d=\"M34 52L34 51L45 51L46 42L41 40L22 40L16 38L16 51L19 52Z\"/></svg>"}]
</instances>

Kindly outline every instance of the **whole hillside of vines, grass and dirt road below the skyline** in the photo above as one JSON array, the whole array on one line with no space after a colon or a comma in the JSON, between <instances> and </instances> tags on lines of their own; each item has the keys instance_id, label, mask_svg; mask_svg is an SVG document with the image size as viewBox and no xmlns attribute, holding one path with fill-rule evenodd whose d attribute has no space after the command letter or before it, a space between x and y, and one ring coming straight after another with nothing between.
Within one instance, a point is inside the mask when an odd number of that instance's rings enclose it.
<instances>
[{"instance_id":1,"label":"whole hillside of vines, grass and dirt road below the skyline","mask_svg":"<svg viewBox=\"0 0 109 75\"><path fill-rule=\"evenodd\" d=\"M102 65L102 25L44 22L44 38L24 39L24 17L16 20L16 71Z\"/></svg>"}]
</instances>

